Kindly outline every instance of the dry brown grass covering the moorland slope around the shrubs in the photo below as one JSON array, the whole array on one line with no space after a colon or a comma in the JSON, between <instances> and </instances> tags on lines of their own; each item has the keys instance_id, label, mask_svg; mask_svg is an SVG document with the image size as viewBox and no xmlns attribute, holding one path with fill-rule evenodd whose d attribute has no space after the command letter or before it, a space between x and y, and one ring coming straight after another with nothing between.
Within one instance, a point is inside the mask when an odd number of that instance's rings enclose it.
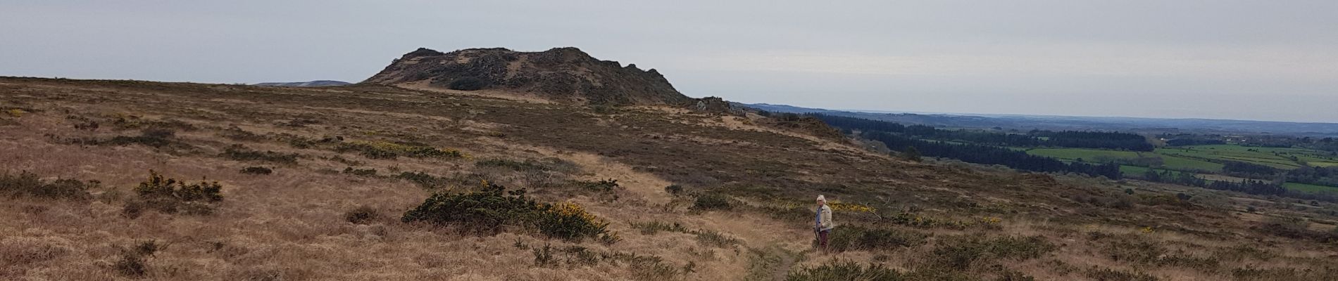
<instances>
[{"instance_id":1,"label":"dry brown grass covering the moorland slope around the shrubs","mask_svg":"<svg viewBox=\"0 0 1338 281\"><path fill-rule=\"evenodd\" d=\"M776 280L800 266L832 260L883 264L918 270L950 236L1040 236L1058 248L1040 258L982 261L969 274L993 278L991 265L1037 280L1089 280L1092 266L1144 272L1163 280L1231 280L1232 269L1295 268L1323 272L1334 265L1333 245L1262 234L1240 220L1240 204L1222 209L1137 205L1096 206L1076 197L1119 193L1129 182L1060 177L1045 180L990 168L910 164L856 145L753 125L745 119L694 115L661 107L597 113L581 107L510 96L458 95L384 87L328 89L136 81L0 79L0 105L35 109L4 117L0 172L28 170L47 178L98 180L94 200L0 198L0 280L131 280L115 270L122 248L140 241L166 246L145 257L143 280L638 280L654 276L650 264L601 258L573 264L559 253L557 266L535 266L533 249L583 246L591 253L658 257L677 269L656 280ZM193 150L169 152L143 145L74 145L58 137L111 137L139 133L106 125L108 115L174 120L197 127L175 140ZM98 129L67 116L103 121ZM756 116L753 116L756 117ZM309 120L309 121L294 121ZM294 125L297 124L297 125ZM221 137L229 128L257 140ZM408 141L456 148L474 158L367 158L330 146L296 148L278 135L320 140ZM238 173L254 162L218 154L231 144L254 150L297 153L296 164L276 165L269 176ZM618 200L570 189L531 186L523 172L475 165L478 158L541 160L575 165L550 172L555 180L615 178ZM343 161L336 160L343 158ZM351 162L356 162L353 165ZM380 177L337 173L376 169ZM181 180L219 181L225 200L209 216L146 212L122 216L130 188L149 170ZM334 173L330 173L333 170ZM541 201L571 201L610 222L624 240L570 244L543 241L526 229L462 236L451 229L404 224L399 216L431 192L392 176L423 172L446 178L490 180L530 188ZM680 184L684 194L665 186ZM1135 182L1136 184L1136 182ZM472 182L446 186L464 190ZM1196 192L1161 185L1140 190ZM733 210L692 210L690 196L716 192L744 205ZM925 245L820 254L809 249L812 194L907 212L946 221L1001 217L998 228L907 226L842 213L839 224L860 224L931 234ZM793 212L793 205L800 210ZM376 216L349 222L348 212L365 206ZM1280 210L1260 206L1260 212ZM1294 210L1287 210L1294 212ZM1254 214L1247 214L1254 216ZM1313 214L1319 216L1319 214ZM1319 216L1322 217L1322 216ZM1327 218L1333 220L1333 218ZM719 232L737 245L704 245L690 233L641 234L630 222L674 221L686 229ZM1145 233L1141 229L1155 229ZM1108 240L1090 233L1149 241L1167 250L1218 257L1214 269L1115 261L1101 250ZM526 249L516 248L520 242ZM1250 246L1274 256L1227 258L1224 249ZM565 258L565 260L563 260ZM1066 272L1062 261L1077 272ZM682 268L692 265L692 272ZM1311 274L1306 278L1322 278ZM1287 280L1279 277L1278 280Z\"/></svg>"}]
</instances>

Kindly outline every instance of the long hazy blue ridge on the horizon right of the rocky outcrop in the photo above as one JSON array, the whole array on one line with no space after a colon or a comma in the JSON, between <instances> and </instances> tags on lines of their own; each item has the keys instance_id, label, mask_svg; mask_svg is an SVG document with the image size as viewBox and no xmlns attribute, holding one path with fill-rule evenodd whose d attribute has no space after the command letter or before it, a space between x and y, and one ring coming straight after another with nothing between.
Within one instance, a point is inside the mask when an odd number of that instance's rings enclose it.
<instances>
[{"instance_id":1,"label":"long hazy blue ridge on the horizon right of the rocky outcrop","mask_svg":"<svg viewBox=\"0 0 1338 281\"><path fill-rule=\"evenodd\" d=\"M1282 123L1214 119L1145 119L1145 117L1082 117L1032 115L949 115L949 113L888 113L860 111L830 111L776 104L739 104L771 112L824 113L835 116L922 124L942 128L1002 128L1052 131L1127 131L1143 133L1272 133L1293 136L1338 136L1334 123Z\"/></svg>"}]
</instances>

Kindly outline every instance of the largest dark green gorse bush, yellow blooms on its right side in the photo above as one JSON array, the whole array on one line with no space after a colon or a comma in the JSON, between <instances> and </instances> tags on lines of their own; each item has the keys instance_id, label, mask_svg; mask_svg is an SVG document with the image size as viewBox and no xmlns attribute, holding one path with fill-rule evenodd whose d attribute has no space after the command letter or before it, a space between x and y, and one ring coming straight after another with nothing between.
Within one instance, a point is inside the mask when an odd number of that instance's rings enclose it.
<instances>
[{"instance_id":1,"label":"largest dark green gorse bush, yellow blooms on its right side","mask_svg":"<svg viewBox=\"0 0 1338 281\"><path fill-rule=\"evenodd\" d=\"M495 234L503 226L533 226L550 238L569 241L599 237L609 225L578 204L538 204L524 196L524 189L507 192L487 181L478 192L432 194L405 212L401 221L450 225L482 234Z\"/></svg>"}]
</instances>

